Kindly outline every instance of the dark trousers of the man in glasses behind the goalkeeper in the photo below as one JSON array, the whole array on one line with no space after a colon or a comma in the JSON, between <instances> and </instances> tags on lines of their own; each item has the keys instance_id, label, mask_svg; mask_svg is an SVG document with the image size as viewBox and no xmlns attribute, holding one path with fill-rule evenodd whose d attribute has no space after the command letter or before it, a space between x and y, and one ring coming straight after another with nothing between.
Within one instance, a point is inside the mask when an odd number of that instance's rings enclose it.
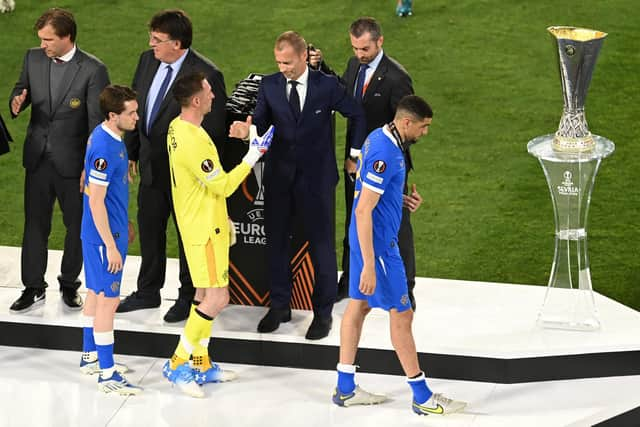
<instances>
[{"instance_id":1,"label":"dark trousers of the man in glasses behind the goalkeeper","mask_svg":"<svg viewBox=\"0 0 640 427\"><path fill-rule=\"evenodd\" d=\"M173 217L178 234L180 259L179 298L192 300L195 294L187 260L184 256L180 230L175 221L171 189L166 191L140 185L138 189L138 236L142 262L138 273L138 294L142 298L160 296L167 271L167 224Z\"/></svg>"}]
</instances>

